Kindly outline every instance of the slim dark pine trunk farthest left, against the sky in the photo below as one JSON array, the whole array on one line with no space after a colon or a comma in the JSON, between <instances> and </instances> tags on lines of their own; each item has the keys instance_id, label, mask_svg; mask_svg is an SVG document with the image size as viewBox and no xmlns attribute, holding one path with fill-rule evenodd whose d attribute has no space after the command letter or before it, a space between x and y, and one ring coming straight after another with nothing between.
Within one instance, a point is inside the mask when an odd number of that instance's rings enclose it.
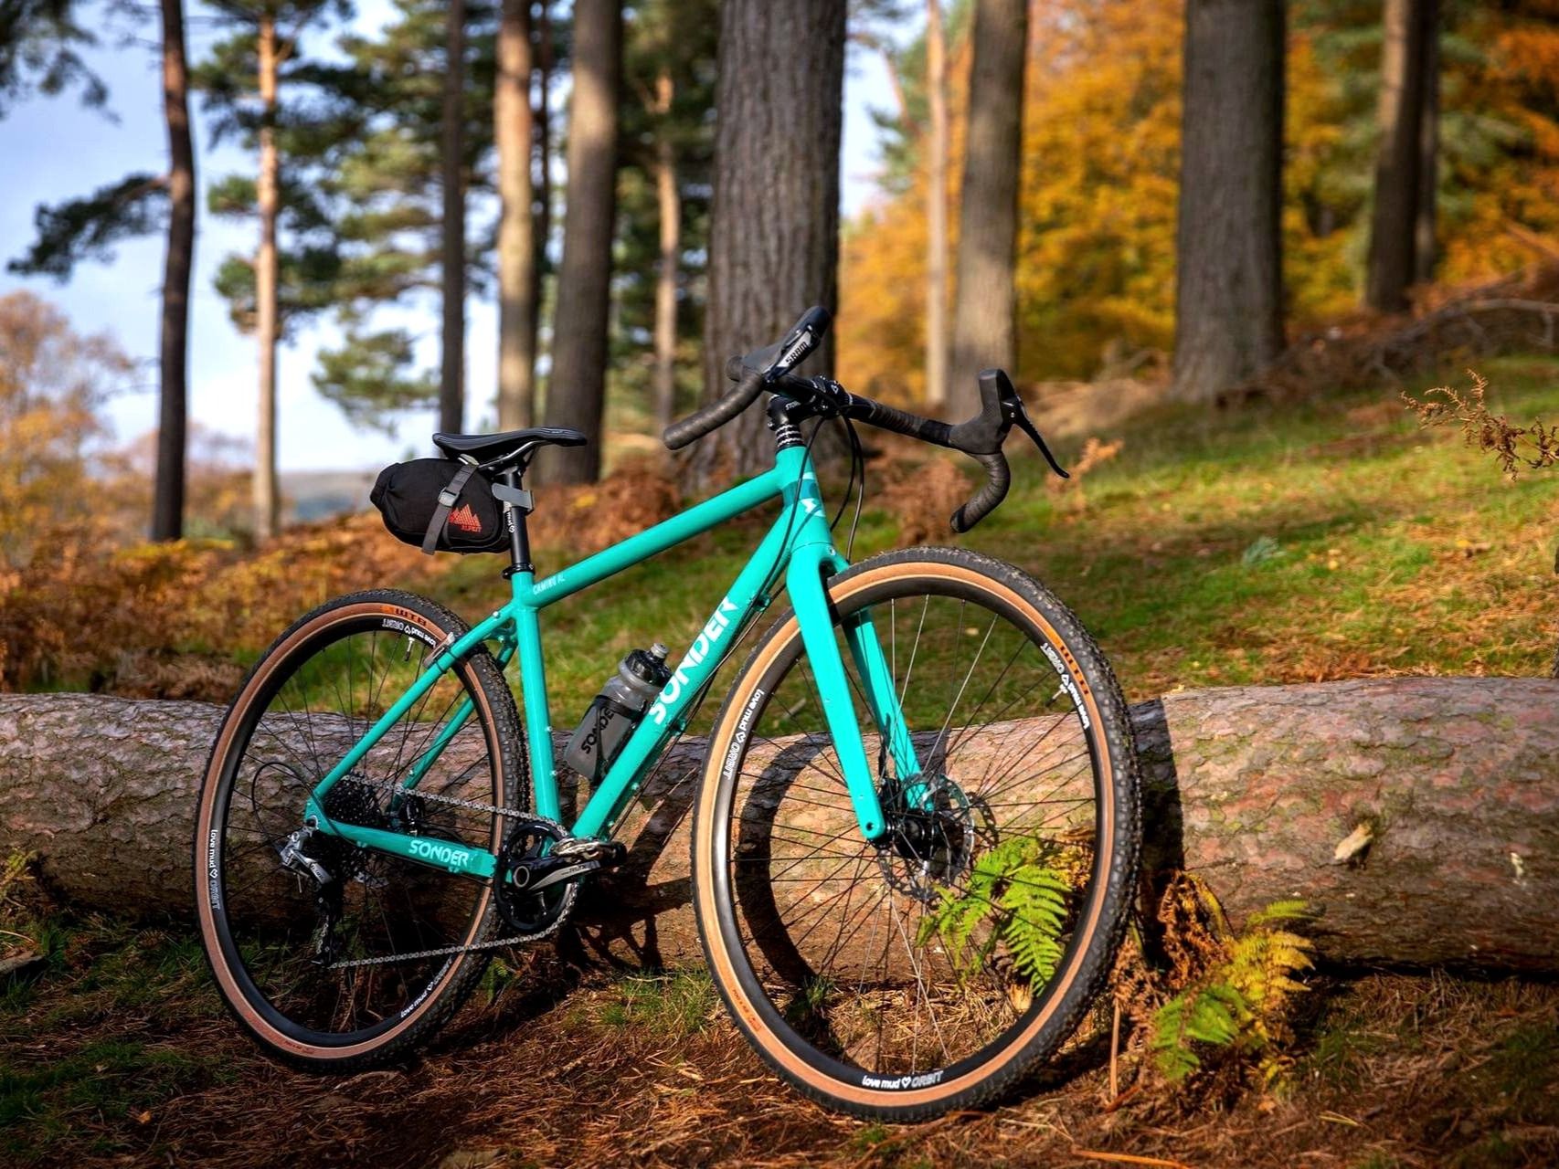
<instances>
[{"instance_id":1,"label":"slim dark pine trunk farthest left, against the sky","mask_svg":"<svg viewBox=\"0 0 1559 1169\"><path fill-rule=\"evenodd\" d=\"M195 260L195 143L190 139L182 0L162 0L162 117L168 129L168 248L162 262L157 340L161 387L151 538L178 539L184 535L190 270Z\"/></svg>"}]
</instances>

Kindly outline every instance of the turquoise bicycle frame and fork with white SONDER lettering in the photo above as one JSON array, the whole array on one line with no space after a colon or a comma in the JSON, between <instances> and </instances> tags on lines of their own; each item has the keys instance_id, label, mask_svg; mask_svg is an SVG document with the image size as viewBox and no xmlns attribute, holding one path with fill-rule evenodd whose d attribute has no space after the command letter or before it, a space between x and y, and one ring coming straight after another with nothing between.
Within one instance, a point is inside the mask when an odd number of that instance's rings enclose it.
<instances>
[{"instance_id":1,"label":"turquoise bicycle frame and fork with white SONDER lettering","mask_svg":"<svg viewBox=\"0 0 1559 1169\"><path fill-rule=\"evenodd\" d=\"M497 871L497 857L486 849L452 840L335 823L324 814L324 796L455 662L477 647L497 641L500 666L507 666L516 653L519 656L535 811L557 820L561 809L552 759L552 715L541 652L541 609L772 499L783 500L780 517L714 608L681 664L672 672L670 681L650 705L633 734L628 736L589 801L580 809L571 831L575 837L610 835L666 745L686 726L695 697L709 683L725 658L728 639L734 636L733 630L742 627L748 617L767 609L773 600L769 591L770 583L776 577L783 577L861 834L867 840L881 837L886 831L886 820L873 782L871 765L865 754L861 725L856 720L850 678L834 641L825 584L829 575L848 567L848 561L834 549L817 474L811 455L801 446L781 447L770 471L571 567L553 572L550 577L536 580L532 570L513 572L510 577L511 600L452 645L440 648L410 689L320 779L307 798L304 823L365 848L446 868L451 873L491 878ZM900 711L892 673L870 617L867 614L853 616L845 622L843 636L856 662L871 719L889 747L896 775L901 778L920 775L920 764ZM471 717L471 700L465 698L427 751L413 762L404 781L407 790L416 787L438 754Z\"/></svg>"}]
</instances>

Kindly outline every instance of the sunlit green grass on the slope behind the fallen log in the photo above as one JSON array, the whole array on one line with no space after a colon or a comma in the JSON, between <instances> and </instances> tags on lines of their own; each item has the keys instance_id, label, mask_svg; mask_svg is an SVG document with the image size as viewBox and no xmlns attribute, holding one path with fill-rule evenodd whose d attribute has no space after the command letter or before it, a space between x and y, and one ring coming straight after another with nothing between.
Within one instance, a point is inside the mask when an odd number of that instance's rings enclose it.
<instances>
[{"instance_id":1,"label":"sunlit green grass on the slope behind the fallen log","mask_svg":"<svg viewBox=\"0 0 1559 1169\"><path fill-rule=\"evenodd\" d=\"M1497 410L1559 413L1559 360L1498 358L1479 371ZM1447 379L1465 376L1409 388ZM1165 407L1101 432L1124 440L1121 454L1060 491L1015 440L1007 502L962 541L951 532L937 541L1045 580L1104 644L1132 697L1370 673L1542 672L1554 634L1548 532L1559 477L1508 482L1458 435L1420 432L1397 394ZM1059 446L1065 463L1082 443ZM703 536L549 609L553 723L571 726L635 645L663 639L680 652L764 522ZM856 558L895 539L895 521L868 502ZM567 560L558 549L538 555L543 572ZM435 592L479 616L504 586L488 558L471 558Z\"/></svg>"}]
</instances>

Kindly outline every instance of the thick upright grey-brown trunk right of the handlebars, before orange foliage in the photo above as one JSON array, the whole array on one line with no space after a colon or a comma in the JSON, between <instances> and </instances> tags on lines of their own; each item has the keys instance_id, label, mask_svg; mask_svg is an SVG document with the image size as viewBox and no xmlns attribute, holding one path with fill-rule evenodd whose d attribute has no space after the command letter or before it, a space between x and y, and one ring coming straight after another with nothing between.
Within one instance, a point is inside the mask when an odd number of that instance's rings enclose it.
<instances>
[{"instance_id":1,"label":"thick upright grey-brown trunk right of the handlebars, before orange foliage","mask_svg":"<svg viewBox=\"0 0 1559 1169\"><path fill-rule=\"evenodd\" d=\"M1188 0L1174 391L1208 402L1283 348L1283 5Z\"/></svg>"}]
</instances>

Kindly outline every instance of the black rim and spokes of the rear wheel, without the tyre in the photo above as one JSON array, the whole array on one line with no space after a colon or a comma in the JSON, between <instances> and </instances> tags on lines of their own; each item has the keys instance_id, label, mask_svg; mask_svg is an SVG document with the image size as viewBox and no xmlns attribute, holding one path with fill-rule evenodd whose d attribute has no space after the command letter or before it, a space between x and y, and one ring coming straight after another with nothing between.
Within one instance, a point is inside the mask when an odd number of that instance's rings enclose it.
<instances>
[{"instance_id":1,"label":"black rim and spokes of the rear wheel, without the tyre","mask_svg":"<svg viewBox=\"0 0 1559 1169\"><path fill-rule=\"evenodd\" d=\"M346 1047L394 1030L430 1004L430 991L465 957L407 955L477 940L486 916L485 882L451 881L412 862L315 837L309 851L338 876L340 887L335 946L321 960L315 885L285 870L278 856L285 834L298 828L296 814L287 809L301 811L313 782L307 776L327 770L345 753L341 743L351 745L368 729L421 672L438 641L385 613L324 625L254 694L223 761L207 829L215 864L206 876L221 957L248 1004L299 1043ZM388 820L419 834L494 848L497 817L398 800L371 786L404 778L469 697L475 712L418 790L500 803L500 764L482 723L477 686L469 666L444 675L354 768L354 778L369 782L343 779L332 789L331 814L354 823ZM366 957L393 960L331 968L332 962Z\"/></svg>"}]
</instances>

